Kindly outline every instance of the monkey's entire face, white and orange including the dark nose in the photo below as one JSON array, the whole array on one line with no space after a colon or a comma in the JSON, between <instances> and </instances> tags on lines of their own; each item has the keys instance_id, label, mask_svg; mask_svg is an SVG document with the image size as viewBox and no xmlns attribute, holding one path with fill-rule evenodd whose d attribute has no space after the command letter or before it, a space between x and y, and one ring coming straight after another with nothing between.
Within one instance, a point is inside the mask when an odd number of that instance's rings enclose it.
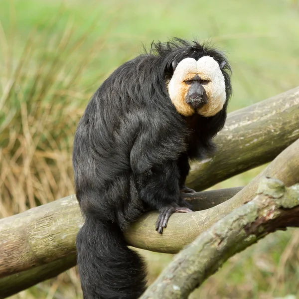
<instances>
[{"instance_id":1,"label":"monkey's entire face, white and orange including the dark nose","mask_svg":"<svg viewBox=\"0 0 299 299\"><path fill-rule=\"evenodd\" d=\"M173 75L166 83L169 97L178 113L191 116L195 113L210 117L222 110L226 103L226 83L220 64L211 56L198 60L184 58L172 63Z\"/></svg>"}]
</instances>

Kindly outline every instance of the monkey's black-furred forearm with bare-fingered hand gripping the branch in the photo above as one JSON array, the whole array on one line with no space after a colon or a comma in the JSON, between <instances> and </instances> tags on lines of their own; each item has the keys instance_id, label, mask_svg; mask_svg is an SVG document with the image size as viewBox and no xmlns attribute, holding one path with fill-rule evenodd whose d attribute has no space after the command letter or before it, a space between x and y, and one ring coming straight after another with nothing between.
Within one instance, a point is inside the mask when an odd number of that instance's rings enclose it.
<instances>
[{"instance_id":1,"label":"monkey's black-furred forearm with bare-fingered hand gripping the branch","mask_svg":"<svg viewBox=\"0 0 299 299\"><path fill-rule=\"evenodd\" d=\"M148 143L149 137L152 140ZM146 206L160 212L155 227L158 233L167 226L172 213L191 212L180 196L177 144L172 144L171 136L158 139L143 132L131 150L131 168L139 195Z\"/></svg>"}]
</instances>

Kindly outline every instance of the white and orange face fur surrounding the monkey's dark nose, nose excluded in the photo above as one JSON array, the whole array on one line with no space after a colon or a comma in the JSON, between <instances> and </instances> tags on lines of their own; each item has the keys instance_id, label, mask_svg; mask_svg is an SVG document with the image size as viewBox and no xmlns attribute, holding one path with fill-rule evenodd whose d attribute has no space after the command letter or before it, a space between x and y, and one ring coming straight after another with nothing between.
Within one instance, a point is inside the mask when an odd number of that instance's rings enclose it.
<instances>
[{"instance_id":1,"label":"white and orange face fur surrounding the monkey's dark nose, nose excluded","mask_svg":"<svg viewBox=\"0 0 299 299\"><path fill-rule=\"evenodd\" d=\"M217 114L225 104L226 92L224 76L218 62L210 57L203 56L197 61L194 58L185 58L177 65L173 76L168 83L168 94L178 113L190 116L195 110L185 102L189 89L186 80L198 75L209 83L202 85L205 89L208 103L197 109L197 113L209 117Z\"/></svg>"}]
</instances>

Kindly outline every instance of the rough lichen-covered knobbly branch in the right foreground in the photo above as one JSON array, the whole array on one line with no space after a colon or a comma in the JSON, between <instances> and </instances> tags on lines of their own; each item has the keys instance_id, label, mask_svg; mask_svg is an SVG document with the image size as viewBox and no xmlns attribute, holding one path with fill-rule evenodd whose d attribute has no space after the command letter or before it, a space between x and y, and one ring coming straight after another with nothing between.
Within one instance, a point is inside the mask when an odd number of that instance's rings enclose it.
<instances>
[{"instance_id":1,"label":"rough lichen-covered knobbly branch in the right foreground","mask_svg":"<svg viewBox=\"0 0 299 299\"><path fill-rule=\"evenodd\" d=\"M140 299L185 299L225 261L269 233L299 226L299 184L263 177L252 201L235 209L177 254Z\"/></svg>"}]
</instances>

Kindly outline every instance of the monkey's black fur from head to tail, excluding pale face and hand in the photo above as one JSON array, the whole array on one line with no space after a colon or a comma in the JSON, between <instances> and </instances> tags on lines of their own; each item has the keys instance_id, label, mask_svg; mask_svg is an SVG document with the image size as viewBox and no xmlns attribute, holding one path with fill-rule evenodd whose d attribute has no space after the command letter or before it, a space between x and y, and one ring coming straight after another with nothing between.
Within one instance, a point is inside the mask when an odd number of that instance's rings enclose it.
<instances>
[{"instance_id":1,"label":"monkey's black fur from head to tail, excluding pale face and hand","mask_svg":"<svg viewBox=\"0 0 299 299\"><path fill-rule=\"evenodd\" d=\"M231 95L224 55L198 42L152 43L124 63L93 95L79 122L73 149L76 196L85 223L76 246L84 299L136 299L145 291L145 265L122 232L146 209L182 206L188 158L214 149L227 101L213 117L184 117L165 81L182 59L212 56Z\"/></svg>"}]
</instances>

